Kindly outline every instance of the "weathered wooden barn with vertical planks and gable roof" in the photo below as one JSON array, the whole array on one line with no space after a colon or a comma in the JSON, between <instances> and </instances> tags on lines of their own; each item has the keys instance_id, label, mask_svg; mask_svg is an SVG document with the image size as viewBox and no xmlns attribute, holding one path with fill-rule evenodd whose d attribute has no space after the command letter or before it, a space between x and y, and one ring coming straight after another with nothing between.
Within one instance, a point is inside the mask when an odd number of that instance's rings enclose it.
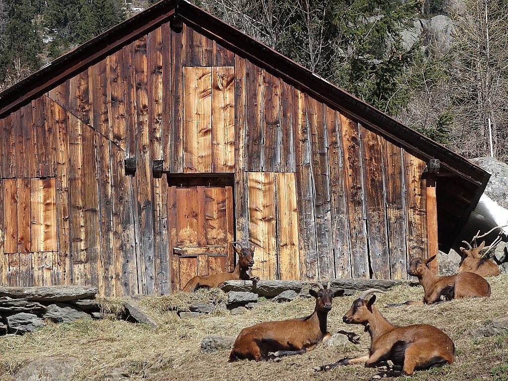
<instances>
[{"instance_id":1,"label":"weathered wooden barn with vertical planks and gable roof","mask_svg":"<svg viewBox=\"0 0 508 381\"><path fill-rule=\"evenodd\" d=\"M0 93L0 284L407 278L489 174L183 0Z\"/></svg>"}]
</instances>

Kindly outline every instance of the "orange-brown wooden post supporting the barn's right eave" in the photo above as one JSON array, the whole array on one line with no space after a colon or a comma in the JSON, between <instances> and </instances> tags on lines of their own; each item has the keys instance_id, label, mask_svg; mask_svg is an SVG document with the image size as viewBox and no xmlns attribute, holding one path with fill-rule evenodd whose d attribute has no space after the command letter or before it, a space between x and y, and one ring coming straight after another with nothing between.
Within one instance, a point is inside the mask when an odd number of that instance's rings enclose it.
<instances>
[{"instance_id":1,"label":"orange-brown wooden post supporting the barn's right eave","mask_svg":"<svg viewBox=\"0 0 508 381\"><path fill-rule=\"evenodd\" d=\"M436 258L429 263L430 269L437 274L438 245L437 245L437 203L436 203L436 176L439 172L439 160L432 159L423 170L426 178L426 199L427 199L427 234L428 253Z\"/></svg>"}]
</instances>

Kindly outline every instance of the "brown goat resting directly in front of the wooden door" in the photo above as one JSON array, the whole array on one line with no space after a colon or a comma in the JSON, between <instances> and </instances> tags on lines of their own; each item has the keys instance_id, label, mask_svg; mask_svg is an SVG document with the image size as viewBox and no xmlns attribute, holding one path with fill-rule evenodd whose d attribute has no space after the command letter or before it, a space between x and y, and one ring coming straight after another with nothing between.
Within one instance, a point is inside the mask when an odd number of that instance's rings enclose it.
<instances>
[{"instance_id":1,"label":"brown goat resting directly in front of the wooden door","mask_svg":"<svg viewBox=\"0 0 508 381\"><path fill-rule=\"evenodd\" d=\"M233 249L238 254L238 263L235 269L230 272L220 272L213 275L196 275L183 287L182 291L195 292L199 288L219 287L227 280L253 280L258 281L259 277L251 278L247 273L254 265L254 250L244 247L239 242L232 242Z\"/></svg>"}]
</instances>

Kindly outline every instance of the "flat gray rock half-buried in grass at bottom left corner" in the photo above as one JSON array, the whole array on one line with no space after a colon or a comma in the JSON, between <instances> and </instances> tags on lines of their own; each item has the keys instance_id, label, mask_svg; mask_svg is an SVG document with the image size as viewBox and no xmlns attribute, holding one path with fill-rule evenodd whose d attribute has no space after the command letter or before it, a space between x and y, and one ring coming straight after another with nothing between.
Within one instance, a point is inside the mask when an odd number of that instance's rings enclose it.
<instances>
[{"instance_id":1,"label":"flat gray rock half-buried in grass at bottom left corner","mask_svg":"<svg viewBox=\"0 0 508 381\"><path fill-rule=\"evenodd\" d=\"M68 381L79 364L75 357L59 359L45 357L23 366L14 376L15 381Z\"/></svg>"}]
</instances>

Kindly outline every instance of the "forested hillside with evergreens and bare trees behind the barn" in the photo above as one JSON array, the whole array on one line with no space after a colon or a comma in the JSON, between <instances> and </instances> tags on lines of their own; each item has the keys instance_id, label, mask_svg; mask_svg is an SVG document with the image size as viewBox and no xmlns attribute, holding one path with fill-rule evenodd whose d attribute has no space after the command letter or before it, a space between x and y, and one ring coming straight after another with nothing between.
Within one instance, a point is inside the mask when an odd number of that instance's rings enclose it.
<instances>
[{"instance_id":1,"label":"forested hillside with evergreens and bare trees behind the barn","mask_svg":"<svg viewBox=\"0 0 508 381\"><path fill-rule=\"evenodd\" d=\"M155 0L0 0L0 90ZM504 0L193 0L466 157L508 163Z\"/></svg>"}]
</instances>

